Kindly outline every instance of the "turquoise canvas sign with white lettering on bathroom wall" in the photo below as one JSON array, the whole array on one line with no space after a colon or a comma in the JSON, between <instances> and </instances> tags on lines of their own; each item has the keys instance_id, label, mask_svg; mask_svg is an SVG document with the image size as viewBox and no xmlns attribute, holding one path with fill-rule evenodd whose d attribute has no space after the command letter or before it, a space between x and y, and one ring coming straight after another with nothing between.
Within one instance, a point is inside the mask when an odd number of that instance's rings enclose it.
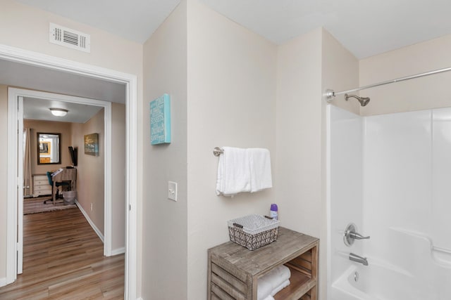
<instances>
[{"instance_id":1,"label":"turquoise canvas sign with white lettering on bathroom wall","mask_svg":"<svg viewBox=\"0 0 451 300\"><path fill-rule=\"evenodd\" d=\"M167 93L150 103L150 143L171 143L171 99Z\"/></svg>"}]
</instances>

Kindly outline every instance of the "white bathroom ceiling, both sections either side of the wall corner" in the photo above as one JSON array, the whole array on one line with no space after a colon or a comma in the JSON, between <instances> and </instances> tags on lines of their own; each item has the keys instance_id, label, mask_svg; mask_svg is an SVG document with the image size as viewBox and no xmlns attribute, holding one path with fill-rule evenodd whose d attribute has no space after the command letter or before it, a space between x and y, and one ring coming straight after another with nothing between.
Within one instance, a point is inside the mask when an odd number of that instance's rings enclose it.
<instances>
[{"instance_id":1,"label":"white bathroom ceiling, both sections either side of the wall corner","mask_svg":"<svg viewBox=\"0 0 451 300\"><path fill-rule=\"evenodd\" d=\"M144 43L180 0L16 0ZM357 58L451 34L450 0L200 0L276 44L324 27Z\"/></svg>"}]
</instances>

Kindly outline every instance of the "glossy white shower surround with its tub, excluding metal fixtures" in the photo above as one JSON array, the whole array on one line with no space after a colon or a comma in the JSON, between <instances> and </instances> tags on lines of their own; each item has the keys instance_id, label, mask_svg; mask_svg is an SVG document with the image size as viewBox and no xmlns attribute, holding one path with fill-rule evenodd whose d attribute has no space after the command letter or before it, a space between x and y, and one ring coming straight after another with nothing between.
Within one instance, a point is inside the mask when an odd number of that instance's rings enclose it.
<instances>
[{"instance_id":1,"label":"glossy white shower surround with its tub, excluding metal fixtures","mask_svg":"<svg viewBox=\"0 0 451 300\"><path fill-rule=\"evenodd\" d=\"M327 114L328 299L450 299L451 108Z\"/></svg>"}]
</instances>

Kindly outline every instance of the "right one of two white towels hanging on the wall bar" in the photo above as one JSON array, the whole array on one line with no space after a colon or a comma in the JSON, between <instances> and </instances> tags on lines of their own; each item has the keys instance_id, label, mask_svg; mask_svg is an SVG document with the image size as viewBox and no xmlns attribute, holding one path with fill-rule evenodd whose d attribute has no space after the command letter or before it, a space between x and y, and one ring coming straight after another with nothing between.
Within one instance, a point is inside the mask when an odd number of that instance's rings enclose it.
<instances>
[{"instance_id":1,"label":"right one of two white towels hanging on the wall bar","mask_svg":"<svg viewBox=\"0 0 451 300\"><path fill-rule=\"evenodd\" d=\"M251 178L251 193L273 187L271 177L271 157L268 149L249 148L249 168Z\"/></svg>"}]
</instances>

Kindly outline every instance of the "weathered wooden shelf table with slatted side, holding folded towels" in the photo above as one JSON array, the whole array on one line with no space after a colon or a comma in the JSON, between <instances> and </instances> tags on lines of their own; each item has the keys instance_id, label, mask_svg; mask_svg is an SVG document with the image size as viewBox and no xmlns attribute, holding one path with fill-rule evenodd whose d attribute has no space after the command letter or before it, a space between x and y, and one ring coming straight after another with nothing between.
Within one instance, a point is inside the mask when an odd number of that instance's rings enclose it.
<instances>
[{"instance_id":1,"label":"weathered wooden shelf table with slatted side, holding folded towels","mask_svg":"<svg viewBox=\"0 0 451 300\"><path fill-rule=\"evenodd\" d=\"M208 250L208 299L257 300L257 282L276 266L291 271L276 300L318 299L319 239L280 227L278 240L250 251L226 242Z\"/></svg>"}]
</instances>

